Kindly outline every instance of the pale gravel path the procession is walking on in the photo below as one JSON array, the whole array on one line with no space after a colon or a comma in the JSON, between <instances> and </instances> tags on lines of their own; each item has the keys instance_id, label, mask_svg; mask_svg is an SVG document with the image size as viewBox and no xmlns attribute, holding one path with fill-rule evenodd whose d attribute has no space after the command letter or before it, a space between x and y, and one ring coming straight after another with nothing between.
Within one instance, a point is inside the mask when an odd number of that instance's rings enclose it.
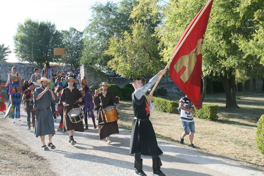
<instances>
[{"instance_id":1,"label":"pale gravel path the procession is walking on","mask_svg":"<svg viewBox=\"0 0 264 176\"><path fill-rule=\"evenodd\" d=\"M21 108L22 112L22 108ZM1 115L0 118L4 118ZM60 119L55 122L58 128ZM132 120L131 120L132 122ZM43 151L40 138L35 138L33 130L26 130L26 114L21 115L21 121L6 118L4 123L9 123L18 139L32 152L47 158L49 167L61 176L129 176L135 175L133 170L134 157L129 155L129 142L131 132L120 129L120 134L111 135L113 141L107 145L106 141L99 140L98 130L93 129L92 120L89 120L89 130L76 132L74 139L77 144L72 146L68 142L68 133L57 132L53 137L55 150ZM164 129L165 130L165 129ZM45 138L46 143L48 137ZM16 141L14 141L16 142ZM158 140L158 145L164 152L161 155L163 166L161 170L168 176L174 175L264 175L264 172L253 167L240 165L231 160L226 160L197 150L192 150L186 145L171 144ZM143 170L147 175L152 175L152 159L143 156Z\"/></svg>"}]
</instances>

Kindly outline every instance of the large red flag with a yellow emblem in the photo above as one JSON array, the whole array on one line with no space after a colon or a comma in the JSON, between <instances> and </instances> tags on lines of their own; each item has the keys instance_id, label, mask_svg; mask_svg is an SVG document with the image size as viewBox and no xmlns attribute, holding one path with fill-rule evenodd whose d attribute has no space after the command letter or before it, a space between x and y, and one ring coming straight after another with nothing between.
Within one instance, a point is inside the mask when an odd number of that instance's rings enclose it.
<instances>
[{"instance_id":1,"label":"large red flag with a yellow emblem","mask_svg":"<svg viewBox=\"0 0 264 176\"><path fill-rule=\"evenodd\" d=\"M212 4L213 0L208 0L185 29L170 63L170 77L198 109L202 108L202 45Z\"/></svg>"}]
</instances>

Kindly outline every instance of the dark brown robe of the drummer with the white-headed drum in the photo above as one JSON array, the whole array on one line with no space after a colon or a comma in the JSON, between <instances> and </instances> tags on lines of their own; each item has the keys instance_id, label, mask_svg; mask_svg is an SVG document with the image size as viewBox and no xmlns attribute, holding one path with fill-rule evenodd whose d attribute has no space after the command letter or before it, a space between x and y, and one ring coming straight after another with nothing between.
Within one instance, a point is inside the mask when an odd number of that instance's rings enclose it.
<instances>
[{"instance_id":1,"label":"dark brown robe of the drummer with the white-headed drum","mask_svg":"<svg viewBox=\"0 0 264 176\"><path fill-rule=\"evenodd\" d=\"M77 88L73 88L72 91L69 88L64 88L61 93L60 102L62 101L69 104L64 107L63 110L63 131L75 130L83 132L83 123L82 121L78 123L72 123L68 115L69 111L73 108L79 108L78 103L75 103L79 98L83 98L81 92ZM75 104L74 104L75 103Z\"/></svg>"}]
</instances>

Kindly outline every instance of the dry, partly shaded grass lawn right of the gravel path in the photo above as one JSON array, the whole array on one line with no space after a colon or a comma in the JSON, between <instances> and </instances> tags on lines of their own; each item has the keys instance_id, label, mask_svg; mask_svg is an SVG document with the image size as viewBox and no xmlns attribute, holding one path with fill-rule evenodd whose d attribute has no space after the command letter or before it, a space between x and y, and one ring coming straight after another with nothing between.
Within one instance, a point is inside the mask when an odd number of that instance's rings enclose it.
<instances>
[{"instance_id":1,"label":"dry, partly shaded grass lawn right of the gravel path","mask_svg":"<svg viewBox=\"0 0 264 176\"><path fill-rule=\"evenodd\" d=\"M257 96L255 96L257 95ZM177 101L184 95L172 94L162 97ZM256 146L257 121L264 112L264 93L239 93L240 108L226 109L224 93L208 94L204 104L218 105L217 121L208 121L194 117L195 130L194 145L198 149L230 159L243 161L245 165L254 165L263 169L264 155ZM131 130L133 122L133 107L130 101L121 102L119 125ZM178 144L178 138L183 132L179 114L155 111L150 114L157 138L162 138ZM186 136L185 143L189 141Z\"/></svg>"}]
</instances>

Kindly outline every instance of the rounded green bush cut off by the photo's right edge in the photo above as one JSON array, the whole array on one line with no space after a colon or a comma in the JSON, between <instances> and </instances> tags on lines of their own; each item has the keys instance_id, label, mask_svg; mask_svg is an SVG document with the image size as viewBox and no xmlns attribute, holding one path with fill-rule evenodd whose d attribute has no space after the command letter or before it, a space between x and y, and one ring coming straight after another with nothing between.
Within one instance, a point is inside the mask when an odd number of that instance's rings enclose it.
<instances>
[{"instance_id":1,"label":"rounded green bush cut off by the photo's right edge","mask_svg":"<svg viewBox=\"0 0 264 176\"><path fill-rule=\"evenodd\" d=\"M260 116L257 123L256 143L260 153L264 154L264 114Z\"/></svg>"}]
</instances>

